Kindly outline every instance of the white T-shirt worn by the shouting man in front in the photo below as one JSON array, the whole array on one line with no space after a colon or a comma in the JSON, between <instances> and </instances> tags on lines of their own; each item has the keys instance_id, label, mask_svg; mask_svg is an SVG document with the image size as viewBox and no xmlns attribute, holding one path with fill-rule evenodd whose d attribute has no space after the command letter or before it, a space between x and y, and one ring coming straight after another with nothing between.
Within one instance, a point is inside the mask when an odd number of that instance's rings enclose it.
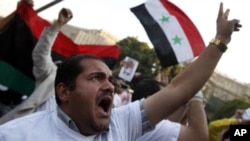
<instances>
[{"instance_id":1,"label":"white T-shirt worn by the shouting man in front","mask_svg":"<svg viewBox=\"0 0 250 141\"><path fill-rule=\"evenodd\" d=\"M112 109L108 132L84 136L70 129L55 111L37 112L0 126L1 141L135 141L144 128L139 101Z\"/></svg>"}]
</instances>

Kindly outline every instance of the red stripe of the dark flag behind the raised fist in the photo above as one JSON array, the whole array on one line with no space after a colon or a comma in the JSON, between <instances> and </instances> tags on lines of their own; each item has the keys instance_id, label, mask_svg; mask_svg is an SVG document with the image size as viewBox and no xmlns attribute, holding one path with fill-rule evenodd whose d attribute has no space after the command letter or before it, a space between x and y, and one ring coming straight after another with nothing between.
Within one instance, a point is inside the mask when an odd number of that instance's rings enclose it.
<instances>
[{"instance_id":1,"label":"red stripe of the dark flag behind the raised fist","mask_svg":"<svg viewBox=\"0 0 250 141\"><path fill-rule=\"evenodd\" d=\"M21 3L17 12L37 39L39 39L43 28L51 25L48 21L39 17L36 11L26 3ZM77 45L62 32L59 33L52 50L65 57L75 54L92 54L98 57L118 59L120 55L120 48L116 45Z\"/></svg>"}]
</instances>

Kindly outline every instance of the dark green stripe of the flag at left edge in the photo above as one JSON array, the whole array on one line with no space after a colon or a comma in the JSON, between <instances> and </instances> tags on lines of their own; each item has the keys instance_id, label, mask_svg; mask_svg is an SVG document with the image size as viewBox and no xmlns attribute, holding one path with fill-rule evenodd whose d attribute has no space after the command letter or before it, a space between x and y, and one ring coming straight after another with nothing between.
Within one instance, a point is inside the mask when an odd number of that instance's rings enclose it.
<instances>
[{"instance_id":1,"label":"dark green stripe of the flag at left edge","mask_svg":"<svg viewBox=\"0 0 250 141\"><path fill-rule=\"evenodd\" d=\"M2 60L0 60L0 84L22 95L30 95L35 87L32 79Z\"/></svg>"}]
</instances>

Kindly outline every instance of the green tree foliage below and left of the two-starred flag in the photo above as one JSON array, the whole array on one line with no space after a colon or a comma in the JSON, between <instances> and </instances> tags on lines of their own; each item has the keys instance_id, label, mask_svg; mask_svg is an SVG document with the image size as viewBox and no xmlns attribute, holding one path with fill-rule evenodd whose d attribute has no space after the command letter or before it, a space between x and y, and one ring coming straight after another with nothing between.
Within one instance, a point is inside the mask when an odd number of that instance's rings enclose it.
<instances>
[{"instance_id":1,"label":"green tree foliage below and left of the two-starred flag","mask_svg":"<svg viewBox=\"0 0 250 141\"><path fill-rule=\"evenodd\" d=\"M181 65L170 66L162 69L160 61L156 55L154 48L150 48L146 42L138 41L135 37L127 37L117 43L121 48L121 54L118 62L126 56L132 57L139 61L137 72L141 73L139 78L134 78L133 83L137 83L141 79L155 79L158 73L168 74L169 80L172 80L180 71ZM118 67L117 64L116 67ZM131 84L133 88L133 84Z\"/></svg>"}]
</instances>

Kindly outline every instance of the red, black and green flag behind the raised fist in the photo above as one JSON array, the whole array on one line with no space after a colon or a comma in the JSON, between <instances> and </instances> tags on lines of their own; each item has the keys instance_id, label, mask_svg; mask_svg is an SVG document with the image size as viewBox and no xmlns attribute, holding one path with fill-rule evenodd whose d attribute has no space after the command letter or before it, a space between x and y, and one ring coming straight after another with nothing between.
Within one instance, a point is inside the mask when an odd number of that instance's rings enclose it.
<instances>
[{"instance_id":1,"label":"red, black and green flag behind the raised fist","mask_svg":"<svg viewBox=\"0 0 250 141\"><path fill-rule=\"evenodd\" d=\"M0 32L1 100L6 97L13 99L16 95L30 95L34 90L31 53L45 26L50 26L50 23L39 17L31 6L22 2L15 17ZM116 45L78 45L60 32L51 54L53 61L75 54L92 54L102 58L112 68L120 55L120 48Z\"/></svg>"}]
</instances>

